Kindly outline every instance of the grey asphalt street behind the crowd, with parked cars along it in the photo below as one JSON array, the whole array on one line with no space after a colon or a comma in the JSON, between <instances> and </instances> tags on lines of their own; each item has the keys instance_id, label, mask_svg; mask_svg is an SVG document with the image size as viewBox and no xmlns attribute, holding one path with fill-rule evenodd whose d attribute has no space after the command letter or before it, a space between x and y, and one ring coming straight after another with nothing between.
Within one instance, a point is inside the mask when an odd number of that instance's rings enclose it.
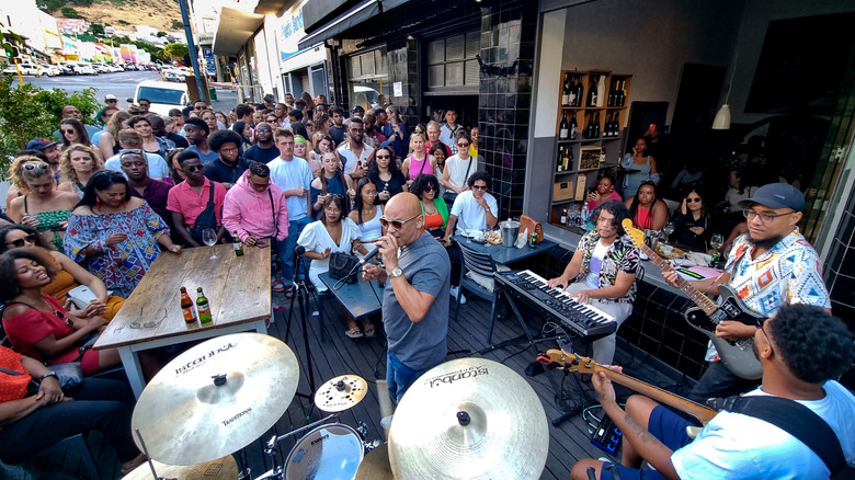
<instances>
[{"instance_id":1,"label":"grey asphalt street behind the crowd, with parked cars along it","mask_svg":"<svg viewBox=\"0 0 855 480\"><path fill-rule=\"evenodd\" d=\"M127 108L127 99L134 96L137 83L144 80L161 80L160 72L132 70L95 76L24 77L25 83L33 83L45 90L60 89L67 92L76 92L93 87L98 90L95 96L99 102L103 102L104 95L112 93L118 98L119 108ZM228 113L238 103L236 91L233 89L216 89L216 91L217 100L212 102L212 106L214 110Z\"/></svg>"}]
</instances>

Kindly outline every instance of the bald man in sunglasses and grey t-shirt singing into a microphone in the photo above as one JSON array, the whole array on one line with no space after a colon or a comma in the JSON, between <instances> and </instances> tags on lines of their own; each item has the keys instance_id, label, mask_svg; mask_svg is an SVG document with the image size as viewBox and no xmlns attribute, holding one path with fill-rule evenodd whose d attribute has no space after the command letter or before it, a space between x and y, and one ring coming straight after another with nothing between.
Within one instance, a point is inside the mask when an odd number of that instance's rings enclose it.
<instances>
[{"instance_id":1,"label":"bald man in sunglasses and grey t-shirt singing into a microphone","mask_svg":"<svg viewBox=\"0 0 855 480\"><path fill-rule=\"evenodd\" d=\"M383 267L366 263L363 278L386 284L386 382L391 398L400 401L419 376L445 362L452 264L445 248L424 230L415 195L391 197L380 224Z\"/></svg>"}]
</instances>

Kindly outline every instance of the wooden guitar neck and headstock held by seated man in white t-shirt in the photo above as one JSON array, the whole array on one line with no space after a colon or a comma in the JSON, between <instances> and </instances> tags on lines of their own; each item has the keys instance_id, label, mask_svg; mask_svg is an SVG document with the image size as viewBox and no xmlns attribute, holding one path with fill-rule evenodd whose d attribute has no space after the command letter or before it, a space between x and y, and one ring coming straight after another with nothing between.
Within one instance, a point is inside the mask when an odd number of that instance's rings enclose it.
<instances>
[{"instance_id":1,"label":"wooden guitar neck and headstock held by seated man in white t-shirt","mask_svg":"<svg viewBox=\"0 0 855 480\"><path fill-rule=\"evenodd\" d=\"M695 403L692 400L680 397L679 395L671 393L670 391L662 390L659 387L654 387L650 384L646 384L641 380L632 378L630 376L619 374L611 368L597 365L591 358L577 355L574 353L567 353L558 348L551 348L546 351L546 355L537 358L538 362L546 364L548 362L558 364L558 368L566 369L568 372L579 372L580 374L596 374L604 373L609 380L615 384L620 384L624 387L631 388L632 390L651 399L673 407L682 412L686 412L689 415L696 418L702 424L706 425L716 414L717 411Z\"/></svg>"}]
</instances>

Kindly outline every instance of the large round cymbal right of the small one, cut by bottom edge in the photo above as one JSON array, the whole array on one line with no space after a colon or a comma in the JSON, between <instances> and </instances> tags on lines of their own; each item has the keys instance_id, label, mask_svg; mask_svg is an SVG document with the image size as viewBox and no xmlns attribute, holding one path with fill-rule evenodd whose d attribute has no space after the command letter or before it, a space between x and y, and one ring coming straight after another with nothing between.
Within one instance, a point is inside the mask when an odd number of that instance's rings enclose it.
<instances>
[{"instance_id":1,"label":"large round cymbal right of the small one, cut by bottom edge","mask_svg":"<svg viewBox=\"0 0 855 480\"><path fill-rule=\"evenodd\" d=\"M392 416L395 478L537 479L549 452L540 399L506 366L458 358L407 390Z\"/></svg>"}]
</instances>

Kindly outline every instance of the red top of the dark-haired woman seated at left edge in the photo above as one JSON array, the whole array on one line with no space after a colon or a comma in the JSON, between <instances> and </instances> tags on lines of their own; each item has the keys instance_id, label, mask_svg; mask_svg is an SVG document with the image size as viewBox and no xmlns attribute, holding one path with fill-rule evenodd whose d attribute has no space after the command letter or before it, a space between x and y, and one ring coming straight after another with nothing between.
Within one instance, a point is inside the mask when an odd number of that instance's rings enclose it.
<instances>
[{"instance_id":1,"label":"red top of the dark-haired woman seated at left edge","mask_svg":"<svg viewBox=\"0 0 855 480\"><path fill-rule=\"evenodd\" d=\"M14 317L7 315L3 317L3 330L9 335L9 341L12 342L12 348L22 355L45 362L48 358L44 358L33 344L46 339L52 333L57 340L64 339L73 333L75 329L66 324L66 310L59 304L59 300L44 294L42 298L47 300L55 311L46 312L29 308L23 313ZM56 358L49 358L49 361L52 364L64 364L72 362L78 355L80 355L80 351L72 346Z\"/></svg>"}]
</instances>

